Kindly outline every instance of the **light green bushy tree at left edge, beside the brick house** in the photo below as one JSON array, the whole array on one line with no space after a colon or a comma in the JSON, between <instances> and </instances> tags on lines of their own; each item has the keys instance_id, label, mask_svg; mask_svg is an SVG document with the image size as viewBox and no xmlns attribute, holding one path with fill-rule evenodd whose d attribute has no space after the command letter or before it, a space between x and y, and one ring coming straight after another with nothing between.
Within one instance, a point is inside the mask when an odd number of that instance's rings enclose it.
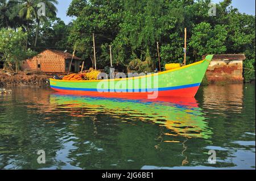
<instances>
[{"instance_id":1,"label":"light green bushy tree at left edge, beside the brick house","mask_svg":"<svg viewBox=\"0 0 256 181\"><path fill-rule=\"evenodd\" d=\"M25 49L27 33L24 33L22 28L18 31L2 28L0 35L0 54L3 54L9 68L15 67L15 71L18 71L20 61L35 55L31 49Z\"/></svg>"}]
</instances>

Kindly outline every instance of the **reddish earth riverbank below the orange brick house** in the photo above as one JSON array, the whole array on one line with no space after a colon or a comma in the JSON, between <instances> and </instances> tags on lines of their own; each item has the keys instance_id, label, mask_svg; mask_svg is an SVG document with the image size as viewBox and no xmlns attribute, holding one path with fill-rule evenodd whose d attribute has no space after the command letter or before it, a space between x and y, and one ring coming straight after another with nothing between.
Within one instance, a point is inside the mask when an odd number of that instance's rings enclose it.
<instances>
[{"instance_id":1,"label":"reddish earth riverbank below the orange brick house","mask_svg":"<svg viewBox=\"0 0 256 181\"><path fill-rule=\"evenodd\" d=\"M43 87L49 85L52 75L44 73L0 73L0 87L5 86L32 86Z\"/></svg>"}]
</instances>

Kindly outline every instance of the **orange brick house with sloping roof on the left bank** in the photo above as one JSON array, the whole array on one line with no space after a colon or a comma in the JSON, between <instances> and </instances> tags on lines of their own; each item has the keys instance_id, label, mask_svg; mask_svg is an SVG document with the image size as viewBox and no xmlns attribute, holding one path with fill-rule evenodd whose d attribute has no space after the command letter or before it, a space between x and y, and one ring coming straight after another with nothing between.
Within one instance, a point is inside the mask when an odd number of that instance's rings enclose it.
<instances>
[{"instance_id":1,"label":"orange brick house with sloping roof on the left bank","mask_svg":"<svg viewBox=\"0 0 256 181\"><path fill-rule=\"evenodd\" d=\"M43 71L43 72L55 72L55 73L65 73L69 70L71 64L72 54L65 53L60 50L47 49L38 55L24 60L22 62L22 70L32 70L32 71ZM78 72L82 60L79 57L73 57L71 71Z\"/></svg>"}]
</instances>

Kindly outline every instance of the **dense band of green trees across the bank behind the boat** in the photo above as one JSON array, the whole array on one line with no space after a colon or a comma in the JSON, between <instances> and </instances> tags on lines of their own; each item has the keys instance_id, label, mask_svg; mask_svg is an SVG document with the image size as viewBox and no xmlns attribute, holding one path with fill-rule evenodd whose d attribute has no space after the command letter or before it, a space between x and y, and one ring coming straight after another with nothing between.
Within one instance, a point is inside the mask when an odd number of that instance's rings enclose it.
<instances>
[{"instance_id":1,"label":"dense band of green trees across the bank behind the boat","mask_svg":"<svg viewBox=\"0 0 256 181\"><path fill-rule=\"evenodd\" d=\"M39 2L46 3L46 16L36 14ZM162 67L183 62L186 27L188 63L204 54L245 53L255 69L255 15L241 14L231 3L223 0L216 4L216 15L209 15L210 0L73 0L67 15L76 20L66 25L56 18L56 0L0 0L0 28L22 27L26 47L37 52L76 47L77 56L92 64L94 33L97 68L110 66L112 45L115 68L127 71L135 62L150 60L137 67L152 71L158 68L157 42Z\"/></svg>"}]
</instances>

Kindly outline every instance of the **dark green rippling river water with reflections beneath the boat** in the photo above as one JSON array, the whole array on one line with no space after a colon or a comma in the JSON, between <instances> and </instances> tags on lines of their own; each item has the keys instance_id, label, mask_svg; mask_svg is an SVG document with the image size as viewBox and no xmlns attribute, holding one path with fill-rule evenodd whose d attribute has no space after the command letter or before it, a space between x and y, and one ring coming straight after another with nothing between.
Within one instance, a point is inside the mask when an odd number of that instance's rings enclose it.
<instances>
[{"instance_id":1,"label":"dark green rippling river water with reflections beneath the boat","mask_svg":"<svg viewBox=\"0 0 256 181\"><path fill-rule=\"evenodd\" d=\"M0 169L255 169L255 85L154 102L10 89Z\"/></svg>"}]
</instances>

